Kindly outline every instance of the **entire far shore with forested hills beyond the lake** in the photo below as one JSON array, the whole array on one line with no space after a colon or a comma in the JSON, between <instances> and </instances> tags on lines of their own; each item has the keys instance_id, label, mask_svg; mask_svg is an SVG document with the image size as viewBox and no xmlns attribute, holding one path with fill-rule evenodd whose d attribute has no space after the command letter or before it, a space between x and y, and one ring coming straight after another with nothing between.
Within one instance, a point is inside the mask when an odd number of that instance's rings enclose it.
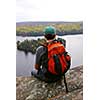
<instances>
[{"instance_id":1,"label":"entire far shore with forested hills beyond the lake","mask_svg":"<svg viewBox=\"0 0 100 100\"><path fill-rule=\"evenodd\" d=\"M46 26L54 26L57 35L74 35L83 33L82 22L21 22L16 23L17 36L42 36Z\"/></svg>"}]
</instances>

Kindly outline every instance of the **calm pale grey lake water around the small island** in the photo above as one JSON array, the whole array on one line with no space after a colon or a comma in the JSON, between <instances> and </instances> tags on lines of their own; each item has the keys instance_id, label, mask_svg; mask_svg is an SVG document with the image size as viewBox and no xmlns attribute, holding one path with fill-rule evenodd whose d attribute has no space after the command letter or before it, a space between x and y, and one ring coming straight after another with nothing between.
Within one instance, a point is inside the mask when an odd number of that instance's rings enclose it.
<instances>
[{"instance_id":1,"label":"calm pale grey lake water around the small island","mask_svg":"<svg viewBox=\"0 0 100 100\"><path fill-rule=\"evenodd\" d=\"M71 68L83 65L83 35L65 35L58 36L66 40L66 50L72 58ZM38 39L42 37L21 37L16 36L16 41L25 39ZM25 54L23 51L16 49L16 76L30 76L34 68L35 55L32 53Z\"/></svg>"}]
</instances>

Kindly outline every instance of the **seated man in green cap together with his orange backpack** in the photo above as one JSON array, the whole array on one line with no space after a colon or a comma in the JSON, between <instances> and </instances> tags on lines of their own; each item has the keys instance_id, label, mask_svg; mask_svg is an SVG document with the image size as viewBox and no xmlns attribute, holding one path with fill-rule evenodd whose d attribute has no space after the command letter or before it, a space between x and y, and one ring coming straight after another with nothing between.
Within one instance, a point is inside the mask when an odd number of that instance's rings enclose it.
<instances>
[{"instance_id":1,"label":"seated man in green cap together with his orange backpack","mask_svg":"<svg viewBox=\"0 0 100 100\"><path fill-rule=\"evenodd\" d=\"M56 39L56 29L48 26L44 30L46 43L36 50L35 70L32 76L45 82L56 82L70 68L70 56L65 50L65 42Z\"/></svg>"}]
</instances>

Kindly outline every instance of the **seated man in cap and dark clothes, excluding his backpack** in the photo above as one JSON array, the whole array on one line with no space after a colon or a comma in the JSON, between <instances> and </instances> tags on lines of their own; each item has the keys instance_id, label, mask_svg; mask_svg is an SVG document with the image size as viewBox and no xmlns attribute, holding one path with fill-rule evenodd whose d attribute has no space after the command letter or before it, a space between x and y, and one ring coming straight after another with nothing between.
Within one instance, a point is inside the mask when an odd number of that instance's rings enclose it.
<instances>
[{"instance_id":1,"label":"seated man in cap and dark clothes, excluding his backpack","mask_svg":"<svg viewBox=\"0 0 100 100\"><path fill-rule=\"evenodd\" d=\"M47 41L46 45L53 43L55 41L59 41L65 46L64 41L61 41L60 39L59 40L56 39L56 29L52 26L48 26L45 28L44 37ZM35 69L37 70L37 73L35 71L32 71L31 75L45 82L55 82L57 80L60 80L62 76L54 75L48 72L47 70L48 68L48 48L46 45L40 46L37 48L36 62L35 62Z\"/></svg>"}]
</instances>

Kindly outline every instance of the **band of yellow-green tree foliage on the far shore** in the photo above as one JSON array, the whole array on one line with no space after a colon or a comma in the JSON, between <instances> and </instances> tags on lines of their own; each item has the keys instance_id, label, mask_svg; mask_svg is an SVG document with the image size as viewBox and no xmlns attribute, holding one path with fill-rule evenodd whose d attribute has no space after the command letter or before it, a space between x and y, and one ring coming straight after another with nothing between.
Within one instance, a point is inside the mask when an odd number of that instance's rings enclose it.
<instances>
[{"instance_id":1,"label":"band of yellow-green tree foliage on the far shore","mask_svg":"<svg viewBox=\"0 0 100 100\"><path fill-rule=\"evenodd\" d=\"M63 24L48 24L54 26L59 31L80 30L80 23L63 23ZM17 26L17 32L43 32L43 29L48 25L34 25L34 26Z\"/></svg>"}]
</instances>

